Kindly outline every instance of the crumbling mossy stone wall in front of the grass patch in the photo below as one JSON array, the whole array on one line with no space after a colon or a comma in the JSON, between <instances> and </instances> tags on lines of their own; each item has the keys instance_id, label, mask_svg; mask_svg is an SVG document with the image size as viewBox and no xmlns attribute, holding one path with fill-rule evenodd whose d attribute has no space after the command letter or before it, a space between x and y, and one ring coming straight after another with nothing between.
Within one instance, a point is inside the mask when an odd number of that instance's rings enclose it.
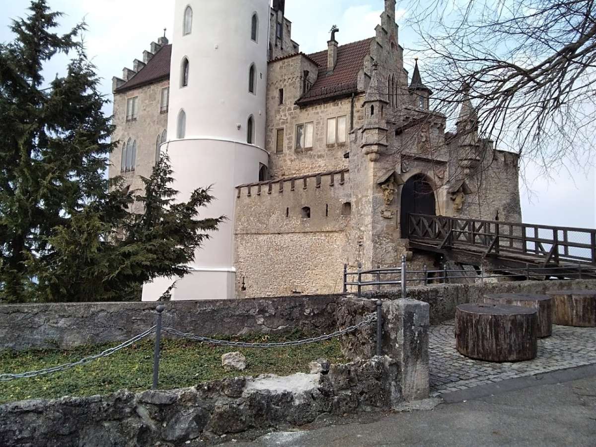
<instances>
[{"instance_id":1,"label":"crumbling mossy stone wall in front of the grass patch","mask_svg":"<svg viewBox=\"0 0 596 447\"><path fill-rule=\"evenodd\" d=\"M0 406L0 445L180 445L226 433L301 426L320 414L391 409L402 401L387 356L331 365L328 374L211 381L167 392L24 401Z\"/></svg>"}]
</instances>

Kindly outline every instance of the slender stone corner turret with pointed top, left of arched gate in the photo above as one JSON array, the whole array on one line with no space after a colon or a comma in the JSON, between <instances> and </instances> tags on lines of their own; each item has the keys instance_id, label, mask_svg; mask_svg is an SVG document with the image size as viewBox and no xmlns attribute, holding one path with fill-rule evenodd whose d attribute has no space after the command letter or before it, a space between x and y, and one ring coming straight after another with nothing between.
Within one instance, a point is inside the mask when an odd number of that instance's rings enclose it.
<instances>
[{"instance_id":1,"label":"slender stone corner turret with pointed top, left of arched gate","mask_svg":"<svg viewBox=\"0 0 596 447\"><path fill-rule=\"evenodd\" d=\"M362 128L362 145L364 153L370 162L376 162L384 148L387 147L387 120L385 107L387 94L384 93L384 83L378 72L377 61L372 64L373 74L364 97L364 128Z\"/></svg>"}]
</instances>

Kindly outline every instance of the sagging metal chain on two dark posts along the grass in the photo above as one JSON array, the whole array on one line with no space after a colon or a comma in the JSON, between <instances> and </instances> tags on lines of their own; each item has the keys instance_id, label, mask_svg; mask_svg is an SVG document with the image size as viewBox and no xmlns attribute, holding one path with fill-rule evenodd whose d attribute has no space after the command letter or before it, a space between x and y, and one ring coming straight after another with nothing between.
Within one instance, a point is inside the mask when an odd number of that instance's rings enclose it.
<instances>
[{"instance_id":1,"label":"sagging metal chain on two dark posts along the grass","mask_svg":"<svg viewBox=\"0 0 596 447\"><path fill-rule=\"evenodd\" d=\"M302 340L291 340L289 342L277 342L277 343L249 343L249 342L231 342L229 340L218 340L213 339L211 337L203 337L198 336L197 334L192 333L184 333L182 331L176 330L175 328L171 327L162 327L162 313L165 310L163 305L157 306L157 318L156 318L156 325L148 328L146 331L138 334L135 337L132 337L126 342L120 343L118 346L110 347L109 349L105 349L103 352L98 354L89 355L85 358L80 359L76 362L65 363L63 365L58 365L51 368L44 368L42 370L36 371L27 371L26 373L16 373L16 374L0 374L0 381L10 381L16 380L19 378L31 378L31 377L38 377L40 375L47 375L58 373L60 371L70 370L71 368L75 368L80 365L85 365L89 362L97 360L102 357L110 356L119 350L125 349L131 344L141 341L145 339L145 337L150 336L151 334L156 334L156 343L155 343L155 351L154 351L154 362L153 362L153 389L157 389L157 380L159 377L159 361L161 356L161 336L162 331L164 333L170 334L172 336L181 337L184 339L195 340L201 343L207 344L216 344L219 346L229 346L229 347L244 347L244 348L274 348L274 347L288 347L288 346L301 346L303 344L309 343L318 343L323 342L325 340L330 340L335 337L340 337L349 333L353 333L357 331L359 328L362 328L366 325L369 325L373 322L377 322L377 355L381 355L381 301L377 300L377 311L375 313L371 313L370 315L366 316L362 321L354 324L352 326L337 330L330 334L323 334L318 337L309 337L308 339Z\"/></svg>"}]
</instances>

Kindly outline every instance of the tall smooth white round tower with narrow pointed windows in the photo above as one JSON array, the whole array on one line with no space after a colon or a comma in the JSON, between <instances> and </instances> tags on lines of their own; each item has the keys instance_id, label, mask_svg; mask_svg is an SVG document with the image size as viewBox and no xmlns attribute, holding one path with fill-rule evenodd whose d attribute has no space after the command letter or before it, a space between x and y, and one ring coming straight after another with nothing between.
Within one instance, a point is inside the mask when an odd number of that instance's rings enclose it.
<instances>
[{"instance_id":1,"label":"tall smooth white round tower with narrow pointed windows","mask_svg":"<svg viewBox=\"0 0 596 447\"><path fill-rule=\"evenodd\" d=\"M268 166L265 100L269 0L176 0L168 140L174 187L187 200L212 185L216 200L201 218L228 218L195 252L193 272L178 281L173 299L234 297L235 187L259 181ZM156 300L173 280L146 284Z\"/></svg>"}]
</instances>

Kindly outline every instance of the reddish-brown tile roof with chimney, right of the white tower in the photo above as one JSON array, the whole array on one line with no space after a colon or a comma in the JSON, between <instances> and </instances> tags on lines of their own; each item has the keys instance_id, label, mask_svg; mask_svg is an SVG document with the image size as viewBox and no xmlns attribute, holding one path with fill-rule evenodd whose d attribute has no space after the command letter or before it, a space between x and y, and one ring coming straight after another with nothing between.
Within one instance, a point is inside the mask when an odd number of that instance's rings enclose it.
<instances>
[{"instance_id":1,"label":"reddish-brown tile roof with chimney, right of the white tower","mask_svg":"<svg viewBox=\"0 0 596 447\"><path fill-rule=\"evenodd\" d=\"M362 69L364 57L370 53L371 41L373 38L339 46L336 67L329 74L327 74L327 50L309 54L308 57L319 66L319 75L311 89L297 101L297 104L358 92L358 72Z\"/></svg>"}]
</instances>

